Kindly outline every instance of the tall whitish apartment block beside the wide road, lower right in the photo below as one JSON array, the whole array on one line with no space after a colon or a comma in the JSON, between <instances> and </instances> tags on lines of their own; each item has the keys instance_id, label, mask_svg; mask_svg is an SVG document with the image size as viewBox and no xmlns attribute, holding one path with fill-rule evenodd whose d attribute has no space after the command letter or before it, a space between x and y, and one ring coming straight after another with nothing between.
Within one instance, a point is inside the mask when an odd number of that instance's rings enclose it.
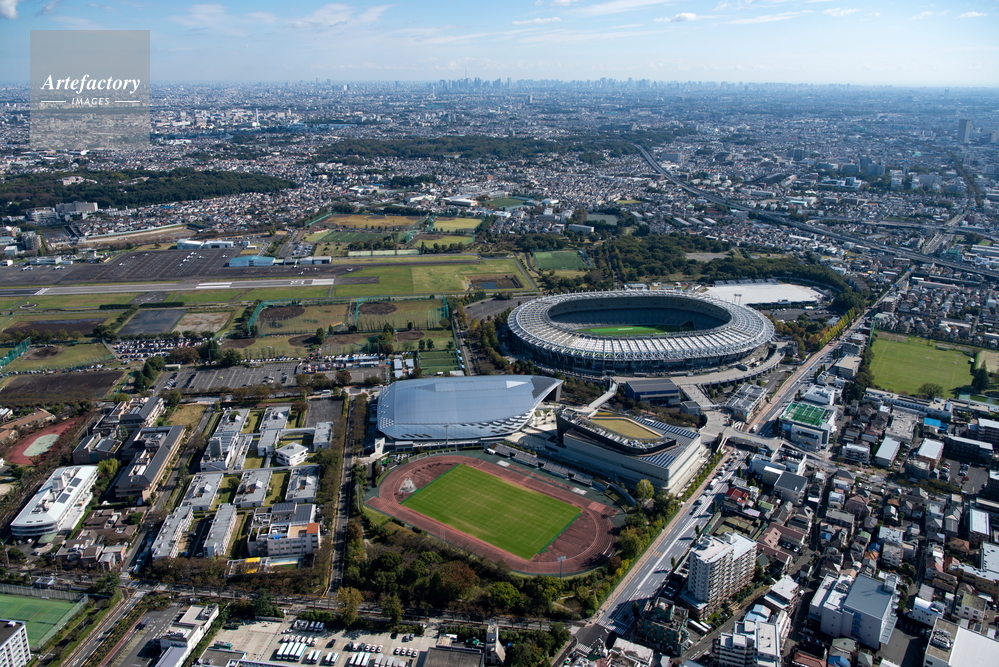
<instances>
[{"instance_id":1,"label":"tall whitish apartment block beside the wide road, lower right","mask_svg":"<svg viewBox=\"0 0 999 667\"><path fill-rule=\"evenodd\" d=\"M738 533L705 535L690 552L690 575L683 599L705 618L753 579L756 542Z\"/></svg>"}]
</instances>

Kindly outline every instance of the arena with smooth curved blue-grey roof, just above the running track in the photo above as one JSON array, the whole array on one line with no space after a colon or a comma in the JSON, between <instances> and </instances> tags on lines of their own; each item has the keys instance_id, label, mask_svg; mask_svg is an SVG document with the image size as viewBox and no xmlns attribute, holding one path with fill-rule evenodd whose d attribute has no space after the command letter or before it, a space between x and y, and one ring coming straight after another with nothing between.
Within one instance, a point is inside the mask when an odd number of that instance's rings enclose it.
<instances>
[{"instance_id":1,"label":"arena with smooth curved blue-grey roof, just above the running track","mask_svg":"<svg viewBox=\"0 0 999 667\"><path fill-rule=\"evenodd\" d=\"M423 378L390 384L378 397L378 430L394 440L465 440L514 433L562 381L538 375Z\"/></svg>"}]
</instances>

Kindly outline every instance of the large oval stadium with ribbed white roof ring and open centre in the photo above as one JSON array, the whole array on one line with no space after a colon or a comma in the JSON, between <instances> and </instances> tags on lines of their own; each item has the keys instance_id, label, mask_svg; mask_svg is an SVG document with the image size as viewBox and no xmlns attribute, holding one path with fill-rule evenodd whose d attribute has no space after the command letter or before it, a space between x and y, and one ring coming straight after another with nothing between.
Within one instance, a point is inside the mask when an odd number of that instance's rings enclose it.
<instances>
[{"instance_id":1,"label":"large oval stadium with ribbed white roof ring and open centre","mask_svg":"<svg viewBox=\"0 0 999 667\"><path fill-rule=\"evenodd\" d=\"M510 330L539 362L580 373L655 373L732 363L770 341L759 312L686 292L560 294L518 306Z\"/></svg>"}]
</instances>

